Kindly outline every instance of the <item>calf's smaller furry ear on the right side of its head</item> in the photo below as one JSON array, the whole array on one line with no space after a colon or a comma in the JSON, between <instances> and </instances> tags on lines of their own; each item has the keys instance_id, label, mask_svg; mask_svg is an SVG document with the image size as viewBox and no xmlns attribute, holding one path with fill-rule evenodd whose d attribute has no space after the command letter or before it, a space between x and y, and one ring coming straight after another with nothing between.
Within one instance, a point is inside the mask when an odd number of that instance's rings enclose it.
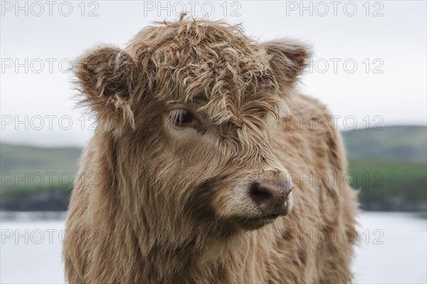
<instances>
[{"instance_id":1,"label":"calf's smaller furry ear on the right side of its head","mask_svg":"<svg viewBox=\"0 0 427 284\"><path fill-rule=\"evenodd\" d=\"M280 88L292 88L311 57L308 46L292 39L278 39L260 43L271 56L270 66Z\"/></svg>"}]
</instances>

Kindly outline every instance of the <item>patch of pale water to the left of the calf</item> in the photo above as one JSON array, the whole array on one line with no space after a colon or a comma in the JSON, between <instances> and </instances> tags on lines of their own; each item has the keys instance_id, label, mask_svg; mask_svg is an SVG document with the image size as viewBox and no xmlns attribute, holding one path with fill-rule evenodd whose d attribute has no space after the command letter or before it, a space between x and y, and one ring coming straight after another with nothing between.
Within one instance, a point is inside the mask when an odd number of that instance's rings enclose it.
<instances>
[{"instance_id":1,"label":"patch of pale water to the left of the calf","mask_svg":"<svg viewBox=\"0 0 427 284\"><path fill-rule=\"evenodd\" d=\"M19 214L11 221L7 215L1 212L0 283L64 283L61 234L65 218Z\"/></svg>"}]
</instances>

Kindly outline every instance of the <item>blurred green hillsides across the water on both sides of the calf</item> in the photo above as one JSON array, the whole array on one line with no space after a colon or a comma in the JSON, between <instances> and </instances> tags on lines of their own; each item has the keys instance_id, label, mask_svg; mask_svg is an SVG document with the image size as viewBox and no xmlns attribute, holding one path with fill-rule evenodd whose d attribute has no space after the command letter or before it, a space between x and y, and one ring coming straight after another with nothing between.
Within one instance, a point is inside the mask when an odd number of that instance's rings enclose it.
<instances>
[{"instance_id":1,"label":"blurred green hillsides across the water on both sides of the calf","mask_svg":"<svg viewBox=\"0 0 427 284\"><path fill-rule=\"evenodd\" d=\"M363 209L427 209L427 127L389 126L342 135L349 184L360 189ZM0 209L65 210L80 153L77 147L0 144Z\"/></svg>"}]
</instances>

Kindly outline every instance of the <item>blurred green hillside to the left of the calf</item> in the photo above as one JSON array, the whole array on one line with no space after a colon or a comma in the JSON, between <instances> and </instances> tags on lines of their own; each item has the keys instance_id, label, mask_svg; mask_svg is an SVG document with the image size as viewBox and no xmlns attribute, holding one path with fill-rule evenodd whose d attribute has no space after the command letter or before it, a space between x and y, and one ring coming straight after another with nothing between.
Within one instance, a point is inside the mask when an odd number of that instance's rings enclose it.
<instances>
[{"instance_id":1,"label":"blurred green hillside to the left of the calf","mask_svg":"<svg viewBox=\"0 0 427 284\"><path fill-rule=\"evenodd\" d=\"M0 144L0 210L66 210L80 153L78 147Z\"/></svg>"}]
</instances>

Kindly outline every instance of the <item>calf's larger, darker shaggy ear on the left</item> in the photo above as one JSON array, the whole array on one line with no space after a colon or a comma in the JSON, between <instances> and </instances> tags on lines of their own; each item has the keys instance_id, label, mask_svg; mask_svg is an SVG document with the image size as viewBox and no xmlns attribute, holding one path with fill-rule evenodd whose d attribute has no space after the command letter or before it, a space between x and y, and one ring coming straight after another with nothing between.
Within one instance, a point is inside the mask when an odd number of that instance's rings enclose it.
<instances>
[{"instance_id":1,"label":"calf's larger, darker shaggy ear on the left","mask_svg":"<svg viewBox=\"0 0 427 284\"><path fill-rule=\"evenodd\" d=\"M98 129L134 127L130 102L137 90L139 70L128 53L115 47L97 48L80 57L73 70L83 95L80 102L95 112Z\"/></svg>"}]
</instances>

